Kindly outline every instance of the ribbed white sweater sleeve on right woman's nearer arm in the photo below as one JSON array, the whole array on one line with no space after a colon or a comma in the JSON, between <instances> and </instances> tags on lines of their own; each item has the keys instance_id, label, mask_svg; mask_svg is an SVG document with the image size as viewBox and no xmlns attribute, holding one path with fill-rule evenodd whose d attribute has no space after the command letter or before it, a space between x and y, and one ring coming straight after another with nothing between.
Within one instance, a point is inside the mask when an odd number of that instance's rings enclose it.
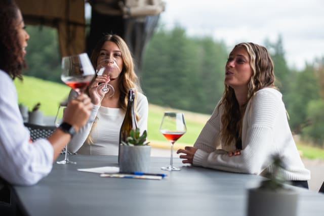
<instances>
[{"instance_id":1,"label":"ribbed white sweater sleeve on right woman's nearer arm","mask_svg":"<svg viewBox=\"0 0 324 216\"><path fill-rule=\"evenodd\" d=\"M268 92L258 92L251 101L246 139L242 139L241 155L230 157L228 154L206 152L198 149L193 164L232 172L259 175L270 165L270 155L275 151L273 126L277 119L282 101ZM251 112L250 112L251 111ZM280 110L281 112L285 110Z\"/></svg>"}]
</instances>

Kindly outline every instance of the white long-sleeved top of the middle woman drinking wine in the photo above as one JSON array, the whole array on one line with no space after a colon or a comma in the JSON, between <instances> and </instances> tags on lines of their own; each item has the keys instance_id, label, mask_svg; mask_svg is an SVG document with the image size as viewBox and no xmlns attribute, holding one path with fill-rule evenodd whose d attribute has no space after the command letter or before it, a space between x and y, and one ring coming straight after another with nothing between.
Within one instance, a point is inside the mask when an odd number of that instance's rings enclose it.
<instances>
[{"instance_id":1,"label":"white long-sleeved top of the middle woman drinking wine","mask_svg":"<svg viewBox=\"0 0 324 216\"><path fill-rule=\"evenodd\" d=\"M141 93L137 93L136 110L139 115L137 125L142 134L145 130L147 131L148 101ZM91 132L94 143L88 144L85 141L92 127L91 121L96 116L97 125ZM77 151L78 154L118 155L119 131L124 117L125 112L120 108L94 105L90 120L73 136L68 144L68 150L70 152Z\"/></svg>"}]
</instances>

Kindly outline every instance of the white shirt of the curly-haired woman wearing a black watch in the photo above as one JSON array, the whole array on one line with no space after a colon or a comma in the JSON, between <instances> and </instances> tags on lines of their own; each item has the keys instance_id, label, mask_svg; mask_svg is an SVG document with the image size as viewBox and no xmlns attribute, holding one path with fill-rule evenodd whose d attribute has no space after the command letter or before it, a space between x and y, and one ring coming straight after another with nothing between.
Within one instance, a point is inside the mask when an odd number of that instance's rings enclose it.
<instances>
[{"instance_id":1,"label":"white shirt of the curly-haired woman wearing a black watch","mask_svg":"<svg viewBox=\"0 0 324 216\"><path fill-rule=\"evenodd\" d=\"M33 185L51 171L53 147L46 139L29 142L15 85L2 70L0 92L0 177L15 185Z\"/></svg>"}]
</instances>

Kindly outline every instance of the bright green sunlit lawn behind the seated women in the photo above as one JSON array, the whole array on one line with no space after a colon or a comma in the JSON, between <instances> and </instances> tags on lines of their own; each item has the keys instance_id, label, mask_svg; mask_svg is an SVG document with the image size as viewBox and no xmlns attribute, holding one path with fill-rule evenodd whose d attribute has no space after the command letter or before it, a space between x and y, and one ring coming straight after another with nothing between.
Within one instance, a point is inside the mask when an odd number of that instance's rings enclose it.
<instances>
[{"instance_id":1,"label":"bright green sunlit lawn behind the seated women","mask_svg":"<svg viewBox=\"0 0 324 216\"><path fill-rule=\"evenodd\" d=\"M28 76L24 76L23 82L16 79L15 85L18 93L18 103L27 105L29 110L31 110L37 102L40 102L40 110L42 110L45 115L55 115L59 103L66 99L70 91L70 88L63 83L60 84ZM209 118L209 115L149 104L148 140L156 146L170 147L166 138L159 132L159 126L163 114L166 111L181 111L185 116L187 133L177 141L177 144L175 145L176 148L185 145L193 145L201 129ZM313 147L307 143L299 141L297 142L297 147L303 157L324 159L324 149L322 148Z\"/></svg>"}]
</instances>

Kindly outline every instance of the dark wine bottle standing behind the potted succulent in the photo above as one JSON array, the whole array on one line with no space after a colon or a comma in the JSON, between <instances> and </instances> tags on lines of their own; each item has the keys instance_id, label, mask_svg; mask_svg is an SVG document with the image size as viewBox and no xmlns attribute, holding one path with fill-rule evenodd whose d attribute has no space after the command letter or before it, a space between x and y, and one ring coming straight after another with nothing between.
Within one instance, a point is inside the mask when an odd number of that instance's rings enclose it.
<instances>
[{"instance_id":1,"label":"dark wine bottle standing behind the potted succulent","mask_svg":"<svg viewBox=\"0 0 324 216\"><path fill-rule=\"evenodd\" d=\"M137 120L134 111L134 99L135 99L135 89L131 88L128 91L128 103L126 114L123 123L120 127L119 132L119 146L118 146L118 163L120 158L120 144L122 141L127 143L126 139L130 136L131 130L135 130L137 128Z\"/></svg>"}]
</instances>

